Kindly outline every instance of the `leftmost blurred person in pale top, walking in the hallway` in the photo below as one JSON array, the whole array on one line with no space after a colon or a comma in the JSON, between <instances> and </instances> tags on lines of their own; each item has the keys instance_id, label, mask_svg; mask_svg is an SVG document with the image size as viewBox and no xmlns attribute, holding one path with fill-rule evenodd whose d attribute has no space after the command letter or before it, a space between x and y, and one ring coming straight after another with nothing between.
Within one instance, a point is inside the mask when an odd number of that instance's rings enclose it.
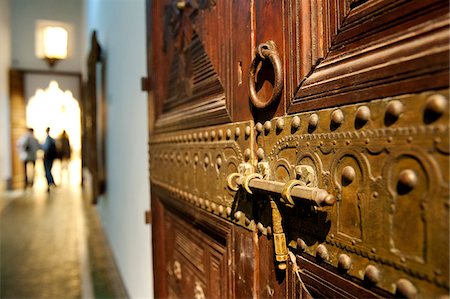
<instances>
[{"instance_id":1,"label":"leftmost blurred person in pale top, walking in the hallway","mask_svg":"<svg viewBox=\"0 0 450 299\"><path fill-rule=\"evenodd\" d=\"M28 132L17 142L19 157L23 161L25 170L25 189L33 187L34 173L36 166L36 153L41 148L39 141L34 137L33 128L28 128ZM32 165L31 171L28 171L28 165ZM30 175L28 175L30 173Z\"/></svg>"}]
</instances>

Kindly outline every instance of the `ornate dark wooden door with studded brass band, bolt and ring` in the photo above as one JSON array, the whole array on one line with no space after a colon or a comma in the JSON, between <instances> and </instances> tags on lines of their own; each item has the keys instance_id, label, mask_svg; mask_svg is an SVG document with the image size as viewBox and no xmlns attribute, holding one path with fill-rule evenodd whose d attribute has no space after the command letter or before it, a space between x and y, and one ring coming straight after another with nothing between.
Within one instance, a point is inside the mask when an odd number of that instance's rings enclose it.
<instances>
[{"instance_id":1,"label":"ornate dark wooden door with studded brass band, bolt and ring","mask_svg":"<svg viewBox=\"0 0 450 299\"><path fill-rule=\"evenodd\" d=\"M446 0L147 15L156 297L448 294Z\"/></svg>"}]
</instances>

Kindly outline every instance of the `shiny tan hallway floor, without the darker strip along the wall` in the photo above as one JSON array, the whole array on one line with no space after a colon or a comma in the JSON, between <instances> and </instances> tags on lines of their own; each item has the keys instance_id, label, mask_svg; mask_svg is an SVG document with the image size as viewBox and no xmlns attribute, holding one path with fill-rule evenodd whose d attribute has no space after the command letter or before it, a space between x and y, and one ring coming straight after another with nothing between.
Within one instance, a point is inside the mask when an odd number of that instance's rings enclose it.
<instances>
[{"instance_id":1,"label":"shiny tan hallway floor, without the darker strip along the wall","mask_svg":"<svg viewBox=\"0 0 450 299\"><path fill-rule=\"evenodd\" d=\"M60 182L48 194L38 173L33 189L2 194L0 201L0 297L86 296L80 267L86 240L79 183Z\"/></svg>"}]
</instances>

